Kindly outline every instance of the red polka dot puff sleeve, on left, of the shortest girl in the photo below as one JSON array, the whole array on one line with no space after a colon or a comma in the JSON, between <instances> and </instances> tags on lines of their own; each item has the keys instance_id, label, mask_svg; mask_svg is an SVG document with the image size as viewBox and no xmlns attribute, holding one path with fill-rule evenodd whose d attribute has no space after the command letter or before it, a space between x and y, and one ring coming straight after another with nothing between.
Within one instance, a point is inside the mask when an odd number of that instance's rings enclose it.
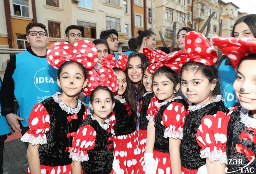
<instances>
[{"instance_id":1,"label":"red polka dot puff sleeve, on left, of the shortest girl","mask_svg":"<svg viewBox=\"0 0 256 174\"><path fill-rule=\"evenodd\" d=\"M88 161L87 150L92 150L95 146L96 132L90 125L79 128L73 136L72 147L69 158L73 161Z\"/></svg>"}]
</instances>

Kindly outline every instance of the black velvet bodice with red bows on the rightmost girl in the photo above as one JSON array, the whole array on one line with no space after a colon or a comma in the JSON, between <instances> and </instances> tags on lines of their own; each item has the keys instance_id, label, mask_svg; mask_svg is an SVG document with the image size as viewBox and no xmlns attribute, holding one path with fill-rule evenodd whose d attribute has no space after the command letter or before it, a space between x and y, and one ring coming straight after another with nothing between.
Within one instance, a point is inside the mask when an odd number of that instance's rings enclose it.
<instances>
[{"instance_id":1,"label":"black velvet bodice with red bows on the rightmost girl","mask_svg":"<svg viewBox=\"0 0 256 174\"><path fill-rule=\"evenodd\" d=\"M248 111L242 107L238 107L235 109L229 118L228 128L227 128L227 159L228 159L228 171L235 171L241 169L249 163L249 160L246 156L255 156L256 154L256 118L253 118L252 112ZM241 139L242 138L242 139ZM244 146L241 148L240 152L235 152L236 149L239 150L239 147L236 146ZM252 153L248 153L249 151ZM248 151L248 152L247 152ZM247 153L245 153L247 152ZM240 163L234 163L235 160L240 160ZM245 173L255 173L256 169L256 160L252 161L251 164L242 172ZM254 167L254 168L253 168ZM246 169L247 168L247 169ZM233 173L241 173L241 170Z\"/></svg>"}]
</instances>

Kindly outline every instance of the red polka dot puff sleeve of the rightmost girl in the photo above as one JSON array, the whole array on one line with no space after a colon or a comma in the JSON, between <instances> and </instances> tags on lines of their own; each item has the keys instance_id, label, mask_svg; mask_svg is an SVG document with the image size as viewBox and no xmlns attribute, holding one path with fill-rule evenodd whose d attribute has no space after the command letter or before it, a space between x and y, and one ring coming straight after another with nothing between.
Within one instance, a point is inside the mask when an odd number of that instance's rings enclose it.
<instances>
[{"instance_id":1,"label":"red polka dot puff sleeve of the rightmost girl","mask_svg":"<svg viewBox=\"0 0 256 174\"><path fill-rule=\"evenodd\" d=\"M196 134L201 158L209 158L210 162L220 160L226 163L227 127L230 114L218 111L214 115L205 115Z\"/></svg>"}]
</instances>

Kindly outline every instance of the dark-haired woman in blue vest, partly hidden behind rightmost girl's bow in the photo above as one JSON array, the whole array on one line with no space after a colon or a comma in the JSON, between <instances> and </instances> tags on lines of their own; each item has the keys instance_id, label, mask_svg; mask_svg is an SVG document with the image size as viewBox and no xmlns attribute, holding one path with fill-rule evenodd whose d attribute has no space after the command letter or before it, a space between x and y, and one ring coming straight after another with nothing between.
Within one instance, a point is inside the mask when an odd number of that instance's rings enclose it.
<instances>
[{"instance_id":1,"label":"dark-haired woman in blue vest, partly hidden behind rightmost girl's bow","mask_svg":"<svg viewBox=\"0 0 256 174\"><path fill-rule=\"evenodd\" d=\"M250 14L240 17L234 24L232 30L232 37L256 37L256 14ZM231 57L230 57L231 58ZM224 60L223 60L224 59ZM220 59L220 67L218 69L218 76L221 87L221 94L224 98L224 105L226 107L239 106L240 102L236 97L233 89L235 78L235 69L231 66L230 59L223 55Z\"/></svg>"}]
</instances>

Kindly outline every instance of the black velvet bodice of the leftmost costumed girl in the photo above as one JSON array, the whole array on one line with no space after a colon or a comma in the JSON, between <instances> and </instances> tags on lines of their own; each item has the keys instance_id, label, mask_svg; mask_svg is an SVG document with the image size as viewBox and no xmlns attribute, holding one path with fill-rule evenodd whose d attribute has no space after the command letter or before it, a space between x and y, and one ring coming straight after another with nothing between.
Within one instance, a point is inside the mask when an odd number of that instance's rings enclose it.
<instances>
[{"instance_id":1,"label":"black velvet bodice of the leftmost costumed girl","mask_svg":"<svg viewBox=\"0 0 256 174\"><path fill-rule=\"evenodd\" d=\"M66 147L72 147L73 137L68 138L67 134L77 131L82 123L85 106L81 104L77 119L72 119L69 123L67 117L73 114L63 111L53 97L42 101L42 104L50 116L50 130L46 133L47 144L40 145L38 149L40 164L47 166L71 164L72 159L69 158L70 153L66 151Z\"/></svg>"}]
</instances>

